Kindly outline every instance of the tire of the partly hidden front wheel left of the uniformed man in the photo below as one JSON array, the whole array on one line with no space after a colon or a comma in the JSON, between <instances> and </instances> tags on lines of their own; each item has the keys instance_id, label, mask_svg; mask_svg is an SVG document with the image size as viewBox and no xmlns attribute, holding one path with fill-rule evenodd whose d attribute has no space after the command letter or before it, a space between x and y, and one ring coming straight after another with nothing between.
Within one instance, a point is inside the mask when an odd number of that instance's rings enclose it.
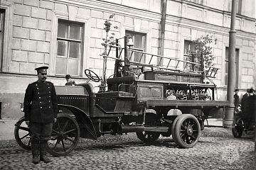
<instances>
[{"instance_id":1,"label":"tire of the partly hidden front wheel left of the uniformed man","mask_svg":"<svg viewBox=\"0 0 256 170\"><path fill-rule=\"evenodd\" d=\"M15 124L15 128L14 128L14 137L15 137L15 140L16 142L18 143L19 146L21 146L23 149L26 149L26 150L31 150L31 142L28 142L28 145L26 145L25 143L22 142L21 140L21 137L19 136L19 130L21 130L21 124L22 123L25 123L25 118L24 116L22 118L20 118L18 120L18 122ZM25 127L24 127L25 128ZM26 135L30 135L30 132L29 132L29 128L26 127L26 129L28 130L28 134ZM24 130L26 131L26 130ZM30 143L30 145L29 145Z\"/></svg>"}]
</instances>

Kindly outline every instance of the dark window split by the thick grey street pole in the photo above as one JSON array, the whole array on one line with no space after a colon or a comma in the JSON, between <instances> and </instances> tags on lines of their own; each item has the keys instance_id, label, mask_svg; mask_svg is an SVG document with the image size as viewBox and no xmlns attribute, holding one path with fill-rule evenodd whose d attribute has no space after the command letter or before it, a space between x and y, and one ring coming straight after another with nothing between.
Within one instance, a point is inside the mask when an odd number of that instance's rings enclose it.
<instances>
[{"instance_id":1,"label":"dark window split by the thick grey street pole","mask_svg":"<svg viewBox=\"0 0 256 170\"><path fill-rule=\"evenodd\" d=\"M235 88L238 88L239 49L235 49ZM228 85L228 47L225 47L225 85Z\"/></svg>"}]
</instances>

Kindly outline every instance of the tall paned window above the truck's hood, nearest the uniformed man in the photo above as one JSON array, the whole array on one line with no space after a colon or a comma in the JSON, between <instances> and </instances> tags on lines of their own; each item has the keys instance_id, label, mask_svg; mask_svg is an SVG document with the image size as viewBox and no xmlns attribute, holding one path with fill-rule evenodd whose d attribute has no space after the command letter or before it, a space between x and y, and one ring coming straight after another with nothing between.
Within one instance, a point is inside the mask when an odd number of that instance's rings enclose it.
<instances>
[{"instance_id":1,"label":"tall paned window above the truck's hood, nearest the uniformed man","mask_svg":"<svg viewBox=\"0 0 256 170\"><path fill-rule=\"evenodd\" d=\"M59 20L55 74L80 76L81 56L82 24Z\"/></svg>"}]
</instances>

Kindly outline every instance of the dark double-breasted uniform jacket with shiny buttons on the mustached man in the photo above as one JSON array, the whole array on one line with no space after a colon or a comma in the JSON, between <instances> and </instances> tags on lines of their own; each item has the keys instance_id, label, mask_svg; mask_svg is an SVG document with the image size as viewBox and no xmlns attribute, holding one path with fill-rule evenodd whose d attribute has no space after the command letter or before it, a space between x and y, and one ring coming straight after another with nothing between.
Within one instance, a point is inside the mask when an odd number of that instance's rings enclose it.
<instances>
[{"instance_id":1,"label":"dark double-breasted uniform jacket with shiny buttons on the mustached man","mask_svg":"<svg viewBox=\"0 0 256 170\"><path fill-rule=\"evenodd\" d=\"M50 81L28 84L24 97L25 120L51 123L57 118L58 103L55 88Z\"/></svg>"}]
</instances>

